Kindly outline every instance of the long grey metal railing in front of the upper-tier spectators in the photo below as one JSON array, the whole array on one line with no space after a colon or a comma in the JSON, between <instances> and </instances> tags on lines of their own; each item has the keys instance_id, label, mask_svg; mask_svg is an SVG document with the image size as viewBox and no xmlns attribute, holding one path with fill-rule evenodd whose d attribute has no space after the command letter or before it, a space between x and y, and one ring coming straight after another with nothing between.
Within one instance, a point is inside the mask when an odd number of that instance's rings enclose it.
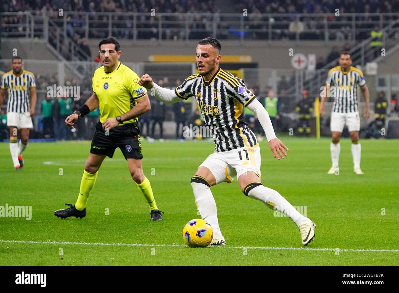
<instances>
[{"instance_id":1,"label":"long grey metal railing in front of the upper-tier spectators","mask_svg":"<svg viewBox=\"0 0 399 293\"><path fill-rule=\"evenodd\" d=\"M36 13L36 12L35 12ZM304 30L290 33L289 27L296 18ZM33 14L31 12L4 12L2 31L4 37L45 37L44 31L51 19L64 36L78 34L86 38L201 39L212 36L219 39L291 39L300 41L336 39L350 41L367 39L378 25L383 28L399 13L341 13L331 14L231 14L231 13L111 13L68 12L62 16Z\"/></svg>"}]
</instances>

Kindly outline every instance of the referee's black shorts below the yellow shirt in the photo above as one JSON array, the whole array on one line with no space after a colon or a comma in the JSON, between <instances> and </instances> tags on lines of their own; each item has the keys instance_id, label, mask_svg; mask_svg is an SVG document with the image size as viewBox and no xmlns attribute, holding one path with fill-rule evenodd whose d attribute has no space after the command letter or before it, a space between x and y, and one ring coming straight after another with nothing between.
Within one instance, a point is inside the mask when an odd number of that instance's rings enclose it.
<instances>
[{"instance_id":1,"label":"referee's black shorts below the yellow shirt","mask_svg":"<svg viewBox=\"0 0 399 293\"><path fill-rule=\"evenodd\" d=\"M91 141L90 153L107 155L112 158L117 147L125 159L142 159L140 129L137 123L128 123L106 132L101 122L96 124L96 131Z\"/></svg>"}]
</instances>

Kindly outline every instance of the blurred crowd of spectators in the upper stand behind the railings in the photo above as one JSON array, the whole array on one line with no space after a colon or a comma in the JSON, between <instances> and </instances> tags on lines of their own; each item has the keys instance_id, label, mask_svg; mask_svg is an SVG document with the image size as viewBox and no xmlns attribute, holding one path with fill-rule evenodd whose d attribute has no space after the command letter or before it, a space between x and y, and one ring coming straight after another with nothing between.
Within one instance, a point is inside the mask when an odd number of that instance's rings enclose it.
<instances>
[{"instance_id":1,"label":"blurred crowd of spectators in the upper stand behind the railings","mask_svg":"<svg viewBox=\"0 0 399 293\"><path fill-rule=\"evenodd\" d=\"M237 0L232 7L224 7L224 2L214 0L5 0L3 11L22 12L30 11L33 14L47 14L58 26L63 26L59 20L59 9L74 13L67 14L67 35L77 38L76 43L81 45L81 38L86 36L86 17L81 12L89 12L89 38L104 38L109 35L109 16L100 12L115 12L112 16L112 35L117 38L132 39L134 37L132 16L118 14L119 12L143 13L136 19L136 37L138 39L185 39L186 20L190 29L190 39L201 39L205 35L213 34L214 25L217 28L217 38L234 39L241 37L251 39L268 39L269 27L272 28L272 39L324 39L324 17L315 18L311 14L329 13L328 24L330 39L351 39L352 17L336 16L336 9L343 13L365 13L356 18L356 39L366 39L373 29L379 16L370 13L399 12L399 0ZM216 12L233 12L243 14L247 12L244 20L244 30L230 25L224 17ZM162 32L159 31L158 16L155 13L179 13L176 16L164 16ZM144 15L146 13L146 15ZM201 13L211 13L202 15ZM296 16L269 16L268 14L306 14ZM18 26L25 22L23 14L3 17L2 23L8 33L23 32L26 28ZM392 20L395 16L391 16ZM390 19L388 16L387 20ZM224 20L224 22L221 22ZM179 23L180 21L180 23Z\"/></svg>"}]
</instances>

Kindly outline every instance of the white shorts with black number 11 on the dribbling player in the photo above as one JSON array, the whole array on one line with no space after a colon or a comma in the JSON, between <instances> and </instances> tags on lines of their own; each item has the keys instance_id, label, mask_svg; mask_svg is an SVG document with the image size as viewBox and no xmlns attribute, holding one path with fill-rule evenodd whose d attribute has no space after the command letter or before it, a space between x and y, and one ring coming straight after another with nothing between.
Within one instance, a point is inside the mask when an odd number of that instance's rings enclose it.
<instances>
[{"instance_id":1,"label":"white shorts with black number 11 on the dribbling player","mask_svg":"<svg viewBox=\"0 0 399 293\"><path fill-rule=\"evenodd\" d=\"M253 171L261 177L261 150L257 145L231 151L215 151L199 167L211 170L216 184L231 183L235 176L238 178L248 171Z\"/></svg>"}]
</instances>

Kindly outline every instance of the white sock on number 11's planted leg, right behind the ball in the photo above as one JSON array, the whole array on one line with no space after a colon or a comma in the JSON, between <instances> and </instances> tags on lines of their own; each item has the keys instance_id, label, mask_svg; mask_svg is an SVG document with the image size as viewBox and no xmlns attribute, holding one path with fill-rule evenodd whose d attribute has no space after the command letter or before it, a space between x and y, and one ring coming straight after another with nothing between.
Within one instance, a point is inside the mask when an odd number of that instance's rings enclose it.
<instances>
[{"instance_id":1,"label":"white sock on number 11's planted leg, right behind the ball","mask_svg":"<svg viewBox=\"0 0 399 293\"><path fill-rule=\"evenodd\" d=\"M194 198L196 199L196 205L198 206L201 218L211 224L213 230L213 238L222 238L220 232L219 222L216 214L216 202L211 193L210 187L203 183L192 182Z\"/></svg>"}]
</instances>

